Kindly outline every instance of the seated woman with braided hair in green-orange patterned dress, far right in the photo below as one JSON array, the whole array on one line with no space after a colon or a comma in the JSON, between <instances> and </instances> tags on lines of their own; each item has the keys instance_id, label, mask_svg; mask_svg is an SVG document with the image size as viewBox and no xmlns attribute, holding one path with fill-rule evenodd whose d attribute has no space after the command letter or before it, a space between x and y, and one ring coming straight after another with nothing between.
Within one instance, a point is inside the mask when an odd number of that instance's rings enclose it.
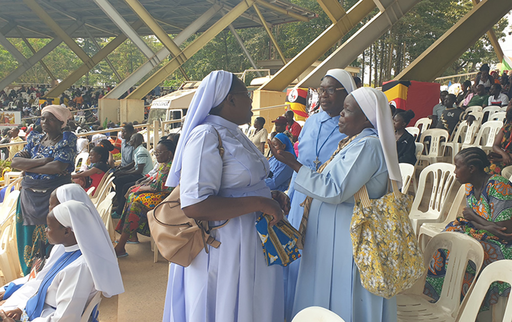
<instances>
[{"instance_id":1,"label":"seated woman with braided hair in green-orange patterned dress, far right","mask_svg":"<svg viewBox=\"0 0 512 322\"><path fill-rule=\"evenodd\" d=\"M455 175L466 185L467 207L444 229L464 233L478 240L484 249L482 269L498 260L512 259L512 183L496 174L487 174L489 166L485 152L478 147L463 149L455 156ZM431 262L424 293L439 298L444 275L445 262L449 252L438 250ZM466 295L475 277L475 264L470 262L464 275L461 300ZM510 285L495 282L482 304L482 311L498 302L498 296L508 296Z\"/></svg>"}]
</instances>

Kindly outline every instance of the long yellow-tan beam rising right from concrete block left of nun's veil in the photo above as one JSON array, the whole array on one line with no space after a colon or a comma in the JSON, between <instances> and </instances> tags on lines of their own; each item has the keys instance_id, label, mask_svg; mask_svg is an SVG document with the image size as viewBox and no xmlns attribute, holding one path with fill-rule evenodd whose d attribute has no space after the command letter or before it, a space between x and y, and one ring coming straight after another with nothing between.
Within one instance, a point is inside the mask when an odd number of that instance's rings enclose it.
<instances>
[{"instance_id":1,"label":"long yellow-tan beam rising right from concrete block left of nun's veil","mask_svg":"<svg viewBox=\"0 0 512 322\"><path fill-rule=\"evenodd\" d=\"M190 43L185 49L183 49L182 57L185 59L190 58L192 55L197 53L203 48L208 41L215 38L222 30L224 30L229 24L237 19L243 12L250 8L254 4L255 0L243 0L230 10L226 15L217 20L208 30L203 32L193 42ZM167 76L175 72L180 67L180 63L176 58L171 59L162 68L160 68L150 78L146 79L139 87L137 87L132 93L130 93L127 99L142 99L147 93L151 92L156 85L162 82Z\"/></svg>"}]
</instances>

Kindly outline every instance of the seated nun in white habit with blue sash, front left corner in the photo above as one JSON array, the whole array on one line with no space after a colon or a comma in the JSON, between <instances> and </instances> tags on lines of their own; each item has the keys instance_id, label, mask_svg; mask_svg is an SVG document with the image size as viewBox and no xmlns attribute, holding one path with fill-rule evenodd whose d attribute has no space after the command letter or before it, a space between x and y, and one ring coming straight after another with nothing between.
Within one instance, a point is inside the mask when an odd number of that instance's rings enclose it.
<instances>
[{"instance_id":1,"label":"seated nun in white habit with blue sash, front left corner","mask_svg":"<svg viewBox=\"0 0 512 322\"><path fill-rule=\"evenodd\" d=\"M79 320L98 291L106 297L124 292L114 248L97 211L67 201L48 214L47 226L48 240L55 245L45 265L50 269L9 297L4 294L0 316L5 322ZM32 294L22 300L18 292Z\"/></svg>"}]
</instances>

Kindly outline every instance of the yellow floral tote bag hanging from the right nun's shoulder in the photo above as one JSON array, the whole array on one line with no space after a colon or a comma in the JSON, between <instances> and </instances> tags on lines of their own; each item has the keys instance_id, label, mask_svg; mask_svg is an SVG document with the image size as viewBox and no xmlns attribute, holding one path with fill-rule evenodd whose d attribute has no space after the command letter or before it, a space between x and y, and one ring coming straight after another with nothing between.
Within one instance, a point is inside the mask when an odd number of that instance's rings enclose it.
<instances>
[{"instance_id":1,"label":"yellow floral tote bag hanging from the right nun's shoulder","mask_svg":"<svg viewBox=\"0 0 512 322\"><path fill-rule=\"evenodd\" d=\"M354 261L361 284L375 295L391 298L410 288L423 274L423 255L409 220L413 197L398 190L370 199L366 186L354 195L350 223Z\"/></svg>"}]
</instances>

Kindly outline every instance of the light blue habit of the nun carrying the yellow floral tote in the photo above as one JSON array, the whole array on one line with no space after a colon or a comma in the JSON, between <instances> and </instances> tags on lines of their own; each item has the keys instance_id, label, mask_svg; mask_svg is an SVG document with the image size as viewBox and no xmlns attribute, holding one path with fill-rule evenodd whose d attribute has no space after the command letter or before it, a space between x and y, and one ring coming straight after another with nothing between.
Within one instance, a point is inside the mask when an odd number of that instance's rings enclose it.
<instances>
[{"instance_id":1,"label":"light blue habit of the nun carrying the yellow floral tote","mask_svg":"<svg viewBox=\"0 0 512 322\"><path fill-rule=\"evenodd\" d=\"M363 130L322 174L305 166L298 171L295 190L313 201L293 315L309 306L321 306L346 322L396 321L396 298L387 300L362 287L352 255L353 196L364 184L370 199L387 191L388 170L373 128Z\"/></svg>"}]
</instances>

